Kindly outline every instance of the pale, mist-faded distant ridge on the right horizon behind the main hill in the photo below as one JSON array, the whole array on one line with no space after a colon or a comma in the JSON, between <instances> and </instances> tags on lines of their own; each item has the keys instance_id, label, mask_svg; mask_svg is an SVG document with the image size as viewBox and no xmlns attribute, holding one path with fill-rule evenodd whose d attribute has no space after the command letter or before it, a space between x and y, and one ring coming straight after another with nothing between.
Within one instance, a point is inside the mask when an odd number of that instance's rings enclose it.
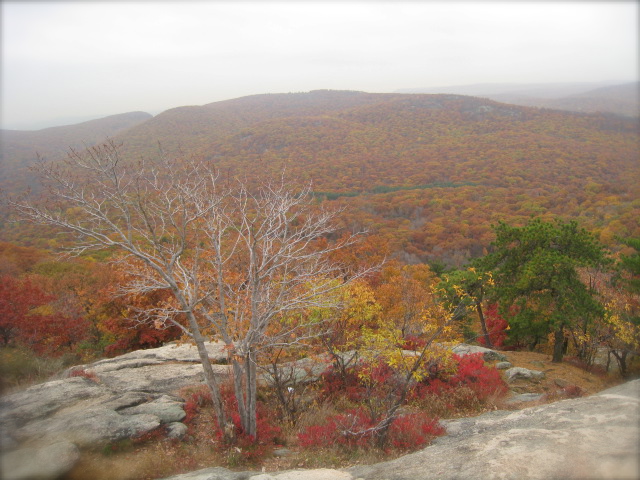
<instances>
[{"instance_id":1,"label":"pale, mist-faded distant ridge on the right horizon behind the main hill","mask_svg":"<svg viewBox=\"0 0 640 480\"><path fill-rule=\"evenodd\" d=\"M401 93L453 93L498 102L584 113L640 117L640 83L478 84L399 90Z\"/></svg>"}]
</instances>

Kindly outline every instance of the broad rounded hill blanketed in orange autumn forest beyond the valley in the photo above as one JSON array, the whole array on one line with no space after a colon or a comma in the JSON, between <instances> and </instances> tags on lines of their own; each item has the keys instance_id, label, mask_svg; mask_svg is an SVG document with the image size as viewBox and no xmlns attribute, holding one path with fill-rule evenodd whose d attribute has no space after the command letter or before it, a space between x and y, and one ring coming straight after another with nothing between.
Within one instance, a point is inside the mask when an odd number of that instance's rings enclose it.
<instances>
[{"instance_id":1,"label":"broad rounded hill blanketed in orange autumn forest beyond the valley","mask_svg":"<svg viewBox=\"0 0 640 480\"><path fill-rule=\"evenodd\" d=\"M461 265L498 220L575 218L609 246L639 235L637 127L474 97L314 91L175 108L115 139L133 160L161 148L228 178L313 182L348 207L345 227L380 234L403 260ZM3 237L38 243L25 234L6 225Z\"/></svg>"}]
</instances>

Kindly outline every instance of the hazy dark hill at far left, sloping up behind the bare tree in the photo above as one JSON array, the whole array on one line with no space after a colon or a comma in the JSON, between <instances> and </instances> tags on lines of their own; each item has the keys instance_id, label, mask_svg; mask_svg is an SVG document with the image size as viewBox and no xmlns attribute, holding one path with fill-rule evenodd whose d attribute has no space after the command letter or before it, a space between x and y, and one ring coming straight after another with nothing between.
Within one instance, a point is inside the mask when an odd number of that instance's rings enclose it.
<instances>
[{"instance_id":1,"label":"hazy dark hill at far left, sloping up behind the bare tree","mask_svg":"<svg viewBox=\"0 0 640 480\"><path fill-rule=\"evenodd\" d=\"M76 125L42 130L0 130L0 186L13 190L21 181L30 181L26 167L37 156L54 159L70 148L90 147L152 118L145 112L129 112L90 120Z\"/></svg>"}]
</instances>

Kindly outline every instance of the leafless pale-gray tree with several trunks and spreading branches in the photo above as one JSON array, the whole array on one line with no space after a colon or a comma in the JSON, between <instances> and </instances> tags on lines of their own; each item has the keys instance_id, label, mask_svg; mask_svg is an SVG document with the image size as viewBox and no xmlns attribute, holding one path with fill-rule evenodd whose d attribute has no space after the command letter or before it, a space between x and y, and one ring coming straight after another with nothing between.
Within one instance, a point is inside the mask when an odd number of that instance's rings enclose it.
<instances>
[{"instance_id":1,"label":"leafless pale-gray tree with several trunks and spreading branches","mask_svg":"<svg viewBox=\"0 0 640 480\"><path fill-rule=\"evenodd\" d=\"M256 438L261 350L316 334L301 312L336 306L337 290L365 273L344 278L329 258L355 240L327 241L338 212L315 205L309 188L294 193L282 180L255 189L222 186L205 162L165 156L127 162L113 142L71 151L65 164L42 162L37 170L49 187L47 202L12 201L21 217L75 235L72 253L121 252L133 275L126 291L169 290L173 301L144 317L176 324L193 339L230 440L233 424L205 342L227 345L241 427ZM298 319L287 321L294 314Z\"/></svg>"}]
</instances>

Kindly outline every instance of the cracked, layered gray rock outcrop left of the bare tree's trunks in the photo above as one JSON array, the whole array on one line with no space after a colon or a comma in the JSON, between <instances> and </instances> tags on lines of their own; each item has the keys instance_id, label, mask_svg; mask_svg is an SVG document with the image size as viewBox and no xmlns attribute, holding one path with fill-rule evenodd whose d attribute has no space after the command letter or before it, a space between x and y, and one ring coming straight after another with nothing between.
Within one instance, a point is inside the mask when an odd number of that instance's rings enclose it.
<instances>
[{"instance_id":1,"label":"cracked, layered gray rock outcrop left of the bare tree's trunks","mask_svg":"<svg viewBox=\"0 0 640 480\"><path fill-rule=\"evenodd\" d=\"M214 362L226 358L222 344L207 350ZM226 365L214 369L228 372ZM58 478L77 461L78 447L136 437L163 424L179 438L185 412L173 392L204 380L195 347L177 344L80 365L61 376L0 398L1 478ZM51 453L61 449L67 453Z\"/></svg>"}]
</instances>

